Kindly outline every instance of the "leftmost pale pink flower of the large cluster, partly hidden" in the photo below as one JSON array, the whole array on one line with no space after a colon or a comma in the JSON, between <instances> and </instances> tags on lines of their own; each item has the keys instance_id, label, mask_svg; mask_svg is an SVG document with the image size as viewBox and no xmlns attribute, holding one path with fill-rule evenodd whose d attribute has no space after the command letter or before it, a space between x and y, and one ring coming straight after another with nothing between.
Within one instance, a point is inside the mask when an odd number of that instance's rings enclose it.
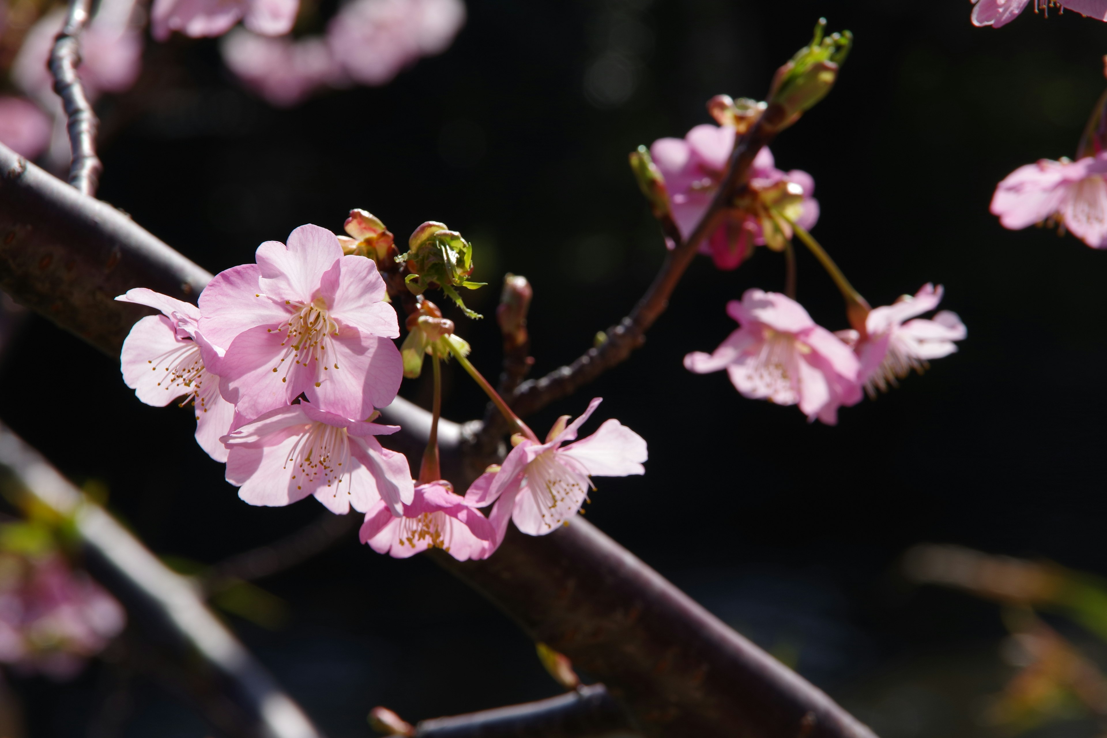
<instances>
[{"instance_id":1,"label":"leftmost pale pink flower of the large cluster, partly hidden","mask_svg":"<svg viewBox=\"0 0 1107 738\"><path fill-rule=\"evenodd\" d=\"M219 394L214 368L220 349L199 333L199 308L142 288L115 299L162 311L135 323L123 342L123 381L138 399L155 407L184 396L180 406L192 403L196 413L196 443L216 461L226 461L219 437L230 430L235 406Z\"/></svg>"}]
</instances>

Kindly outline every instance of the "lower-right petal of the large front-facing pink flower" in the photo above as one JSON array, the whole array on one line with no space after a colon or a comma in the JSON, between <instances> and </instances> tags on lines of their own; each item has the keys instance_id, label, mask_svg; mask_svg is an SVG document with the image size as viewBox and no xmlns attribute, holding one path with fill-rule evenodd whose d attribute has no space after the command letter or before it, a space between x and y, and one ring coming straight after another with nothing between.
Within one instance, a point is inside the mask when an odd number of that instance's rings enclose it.
<instances>
[{"instance_id":1,"label":"lower-right petal of the large front-facing pink flower","mask_svg":"<svg viewBox=\"0 0 1107 738\"><path fill-rule=\"evenodd\" d=\"M229 356L230 352L227 354ZM348 418L369 417L374 408L387 407L396 398L404 364L396 344L389 339L343 328L328 342L324 355L329 364L318 374L314 366L296 367L298 376L308 377L309 372L311 375L302 382L297 381L293 387L297 395L306 392L321 409ZM312 382L317 376L318 387ZM292 383L291 376L289 383Z\"/></svg>"}]
</instances>

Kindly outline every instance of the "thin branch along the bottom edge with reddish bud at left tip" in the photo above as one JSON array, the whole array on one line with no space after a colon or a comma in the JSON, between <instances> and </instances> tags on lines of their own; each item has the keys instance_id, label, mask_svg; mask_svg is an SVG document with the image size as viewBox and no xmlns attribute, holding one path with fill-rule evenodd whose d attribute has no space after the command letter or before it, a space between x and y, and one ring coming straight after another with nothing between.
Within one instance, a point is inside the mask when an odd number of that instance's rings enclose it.
<instances>
[{"instance_id":1,"label":"thin branch along the bottom edge with reddish bud at left tip","mask_svg":"<svg viewBox=\"0 0 1107 738\"><path fill-rule=\"evenodd\" d=\"M370 715L374 729L413 738L607 738L634 732L602 684L549 699L468 715L422 720L412 727L384 708Z\"/></svg>"}]
</instances>

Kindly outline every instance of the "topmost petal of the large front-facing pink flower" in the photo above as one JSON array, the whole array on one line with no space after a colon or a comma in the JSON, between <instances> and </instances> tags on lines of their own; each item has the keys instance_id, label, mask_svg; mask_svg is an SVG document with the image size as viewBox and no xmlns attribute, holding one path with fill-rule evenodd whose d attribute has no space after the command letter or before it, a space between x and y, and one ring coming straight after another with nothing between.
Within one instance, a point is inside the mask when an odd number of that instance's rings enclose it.
<instances>
[{"instance_id":1,"label":"topmost petal of the large front-facing pink flower","mask_svg":"<svg viewBox=\"0 0 1107 738\"><path fill-rule=\"evenodd\" d=\"M300 226L288 247L266 241L258 247L261 292L277 300L309 303L319 297L323 274L342 258L338 237L319 226Z\"/></svg>"}]
</instances>

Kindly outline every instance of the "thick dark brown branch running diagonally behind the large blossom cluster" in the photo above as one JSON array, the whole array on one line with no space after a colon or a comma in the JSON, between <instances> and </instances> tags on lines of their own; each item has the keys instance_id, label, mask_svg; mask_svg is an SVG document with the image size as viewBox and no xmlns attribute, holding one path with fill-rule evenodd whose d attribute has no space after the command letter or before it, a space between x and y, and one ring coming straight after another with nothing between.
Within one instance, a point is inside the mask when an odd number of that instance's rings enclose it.
<instances>
[{"instance_id":1,"label":"thick dark brown branch running diagonally behind the large blossom cluster","mask_svg":"<svg viewBox=\"0 0 1107 738\"><path fill-rule=\"evenodd\" d=\"M752 146L738 147L743 157L756 154ZM690 251L682 253L691 258ZM110 268L102 261L106 254L115 254ZM82 279L66 277L61 264L77 260L84 267L77 270ZM41 269L40 261L45 262ZM677 278L673 270L664 272L659 277L663 285L652 294L671 292ZM19 302L116 356L143 313L113 297L148 287L195 300L208 279L203 269L111 207L80 196L0 146L0 287ZM61 308L52 310L55 303ZM663 308L653 304L642 314L655 318ZM559 391L568 386L559 385ZM404 426L404 433L391 438L422 450L430 413L396 398L384 416ZM444 464L449 458L456 464L464 429L445 422L439 426ZM127 545L139 545L122 530L121 536ZM436 560L497 603L536 641L603 680L646 736L712 738L737 731L872 738L823 692L581 518L538 538L511 529L487 561Z\"/></svg>"}]
</instances>

